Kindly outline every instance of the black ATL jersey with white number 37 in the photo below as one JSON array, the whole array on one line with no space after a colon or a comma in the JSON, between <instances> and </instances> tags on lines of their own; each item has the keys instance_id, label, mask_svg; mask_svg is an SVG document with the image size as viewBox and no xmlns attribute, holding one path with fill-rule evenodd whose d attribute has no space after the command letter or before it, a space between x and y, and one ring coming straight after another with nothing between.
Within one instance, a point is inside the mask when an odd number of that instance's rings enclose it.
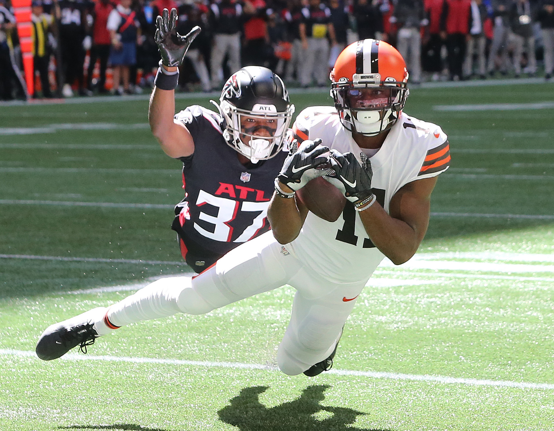
<instances>
[{"instance_id":1,"label":"black ATL jersey with white number 37","mask_svg":"<svg viewBox=\"0 0 554 431\"><path fill-rule=\"evenodd\" d=\"M185 255L191 252L208 266L270 229L269 200L287 153L280 151L269 160L245 166L223 139L218 113L193 105L175 118L191 133L194 153L181 158L186 193L175 206L172 229L184 243L181 251L187 263Z\"/></svg>"}]
</instances>

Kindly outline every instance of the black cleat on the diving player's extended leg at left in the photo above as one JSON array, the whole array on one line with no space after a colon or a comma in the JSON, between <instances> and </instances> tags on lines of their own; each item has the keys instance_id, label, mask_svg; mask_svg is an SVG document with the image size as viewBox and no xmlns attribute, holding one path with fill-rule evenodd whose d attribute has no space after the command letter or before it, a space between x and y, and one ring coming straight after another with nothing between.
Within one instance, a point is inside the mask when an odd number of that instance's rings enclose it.
<instances>
[{"instance_id":1,"label":"black cleat on the diving player's extended leg at left","mask_svg":"<svg viewBox=\"0 0 554 431\"><path fill-rule=\"evenodd\" d=\"M37 342L37 356L43 361L50 361L65 355L75 346L86 353L86 347L93 345L99 337L93 326L102 319L106 310L106 307L98 307L48 326Z\"/></svg>"}]
</instances>

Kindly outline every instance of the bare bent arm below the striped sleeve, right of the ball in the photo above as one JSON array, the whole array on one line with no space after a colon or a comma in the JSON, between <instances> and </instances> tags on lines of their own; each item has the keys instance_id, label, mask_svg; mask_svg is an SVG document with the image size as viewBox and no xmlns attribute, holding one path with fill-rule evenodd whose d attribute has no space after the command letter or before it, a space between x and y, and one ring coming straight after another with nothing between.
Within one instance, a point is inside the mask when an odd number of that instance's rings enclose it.
<instances>
[{"instance_id":1,"label":"bare bent arm below the striped sleeve, right of the ball","mask_svg":"<svg viewBox=\"0 0 554 431\"><path fill-rule=\"evenodd\" d=\"M404 185L392 197L389 214L377 203L360 211L367 235L394 264L407 262L423 241L436 183L434 176Z\"/></svg>"}]
</instances>

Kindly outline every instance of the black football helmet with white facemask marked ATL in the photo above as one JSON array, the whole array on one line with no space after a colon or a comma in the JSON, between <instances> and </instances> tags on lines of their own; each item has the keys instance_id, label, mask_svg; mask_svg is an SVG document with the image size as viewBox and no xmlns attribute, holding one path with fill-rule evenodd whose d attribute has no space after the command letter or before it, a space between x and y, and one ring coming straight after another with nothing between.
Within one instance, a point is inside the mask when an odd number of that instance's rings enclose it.
<instances>
[{"instance_id":1,"label":"black football helmet with white facemask marked ATL","mask_svg":"<svg viewBox=\"0 0 554 431\"><path fill-rule=\"evenodd\" d=\"M283 80L267 67L246 66L238 70L225 82L219 105L211 102L223 117L225 141L252 163L270 159L283 148L294 105ZM253 131L241 129L244 116L276 120L273 136L256 136Z\"/></svg>"}]
</instances>

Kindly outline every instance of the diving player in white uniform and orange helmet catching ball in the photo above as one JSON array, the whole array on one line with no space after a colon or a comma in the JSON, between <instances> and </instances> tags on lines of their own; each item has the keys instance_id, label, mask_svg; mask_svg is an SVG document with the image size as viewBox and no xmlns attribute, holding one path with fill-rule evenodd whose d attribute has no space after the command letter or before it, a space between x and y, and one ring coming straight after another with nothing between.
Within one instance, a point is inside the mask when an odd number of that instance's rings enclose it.
<instances>
[{"instance_id":1,"label":"diving player in white uniform and orange helmet catching ball","mask_svg":"<svg viewBox=\"0 0 554 431\"><path fill-rule=\"evenodd\" d=\"M111 307L50 326L38 356L55 359L122 325L204 314L289 284L296 294L277 352L279 368L308 376L328 370L345 321L381 259L406 262L423 240L430 194L450 160L443 131L403 113L408 72L391 45L365 39L347 46L331 80L335 108L308 108L293 126L300 146L275 179L271 232L194 278L162 278ZM320 176L346 197L335 222L295 199Z\"/></svg>"}]
</instances>

